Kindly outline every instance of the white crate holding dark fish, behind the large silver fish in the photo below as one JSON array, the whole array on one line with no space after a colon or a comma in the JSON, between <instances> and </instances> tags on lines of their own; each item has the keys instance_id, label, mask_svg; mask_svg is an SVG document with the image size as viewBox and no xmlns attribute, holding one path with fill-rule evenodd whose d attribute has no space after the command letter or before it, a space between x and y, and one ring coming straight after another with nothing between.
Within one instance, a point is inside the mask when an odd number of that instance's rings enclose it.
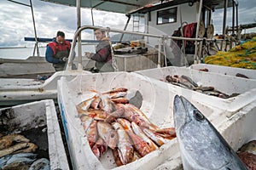
<instances>
[{"instance_id":1,"label":"white crate holding dark fish, behind the large silver fish","mask_svg":"<svg viewBox=\"0 0 256 170\"><path fill-rule=\"evenodd\" d=\"M256 99L256 80L253 79L225 76L218 73L196 71L194 69L176 66L136 71L136 73L144 77L153 78L157 80L159 84L168 84L169 90L174 93L183 94L186 98L198 101L203 105L212 105L224 111L239 111L243 106L248 105ZM178 87L169 82L163 82L168 75L185 75L190 77L198 85L212 86L224 94L239 95L229 99L222 99L207 94L201 94L190 89Z\"/></svg>"}]
</instances>

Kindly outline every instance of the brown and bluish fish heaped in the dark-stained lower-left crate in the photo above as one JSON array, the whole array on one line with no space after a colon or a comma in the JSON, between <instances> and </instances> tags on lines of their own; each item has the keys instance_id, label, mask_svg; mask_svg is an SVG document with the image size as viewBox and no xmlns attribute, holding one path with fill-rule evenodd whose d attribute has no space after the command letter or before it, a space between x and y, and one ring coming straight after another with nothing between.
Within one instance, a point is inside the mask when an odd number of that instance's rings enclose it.
<instances>
[{"instance_id":1,"label":"brown and bluish fish heaped in the dark-stained lower-left crate","mask_svg":"<svg viewBox=\"0 0 256 170\"><path fill-rule=\"evenodd\" d=\"M37 160L38 149L23 135L9 134L0 137L0 169L49 169L49 161L45 158ZM44 168L43 168L44 167Z\"/></svg>"}]
</instances>

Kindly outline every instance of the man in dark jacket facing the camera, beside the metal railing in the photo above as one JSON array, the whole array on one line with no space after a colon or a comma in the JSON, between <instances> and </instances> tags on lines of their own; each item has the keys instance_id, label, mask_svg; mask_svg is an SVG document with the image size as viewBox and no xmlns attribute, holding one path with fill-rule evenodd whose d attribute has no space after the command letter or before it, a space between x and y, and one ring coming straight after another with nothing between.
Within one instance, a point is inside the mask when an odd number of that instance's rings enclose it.
<instances>
[{"instance_id":1,"label":"man in dark jacket facing the camera, beside the metal railing","mask_svg":"<svg viewBox=\"0 0 256 170\"><path fill-rule=\"evenodd\" d=\"M85 52L85 56L88 59L96 61L96 68L90 69L92 72L110 72L114 71L112 65L112 54L109 43L109 38L106 37L106 31L102 29L96 29L94 31L96 40L99 43L96 45L96 54Z\"/></svg>"}]
</instances>

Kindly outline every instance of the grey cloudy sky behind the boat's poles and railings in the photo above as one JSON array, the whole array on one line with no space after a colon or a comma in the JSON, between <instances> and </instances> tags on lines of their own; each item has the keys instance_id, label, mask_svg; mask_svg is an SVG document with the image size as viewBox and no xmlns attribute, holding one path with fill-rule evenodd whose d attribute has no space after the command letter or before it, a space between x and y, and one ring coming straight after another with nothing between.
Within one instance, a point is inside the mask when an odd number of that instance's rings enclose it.
<instances>
[{"instance_id":1,"label":"grey cloudy sky behind the boat's poles and railings","mask_svg":"<svg viewBox=\"0 0 256 170\"><path fill-rule=\"evenodd\" d=\"M29 0L15 0L30 4ZM239 24L256 22L256 1L238 0ZM67 7L55 3L32 0L36 30L38 37L55 37L56 31L65 31L67 39L73 39L77 27L77 12L75 7ZM33 46L34 42L25 42L24 37L34 37L31 8L0 0L0 47ZM93 10L95 26L104 26L123 30L127 17L125 14L116 14ZM223 10L214 12L213 24L215 33L222 32ZM228 26L231 26L231 12L228 10ZM81 8L81 26L92 26L90 9ZM256 32L256 29L249 29ZM93 38L90 32L82 35L84 38Z\"/></svg>"}]
</instances>

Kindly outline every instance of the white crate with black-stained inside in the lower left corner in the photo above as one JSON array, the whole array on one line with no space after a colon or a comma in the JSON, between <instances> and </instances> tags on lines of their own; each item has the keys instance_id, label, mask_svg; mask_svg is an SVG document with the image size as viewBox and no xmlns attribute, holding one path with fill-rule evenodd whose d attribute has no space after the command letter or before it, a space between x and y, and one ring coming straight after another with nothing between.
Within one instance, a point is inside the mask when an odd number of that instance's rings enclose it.
<instances>
[{"instance_id":1,"label":"white crate with black-stained inside in the lower left corner","mask_svg":"<svg viewBox=\"0 0 256 170\"><path fill-rule=\"evenodd\" d=\"M0 109L0 117L2 119L0 127L6 129L9 133L22 133L37 127L46 126L47 132L45 133L47 134L45 138L42 138L42 136L44 137L42 133L33 135L33 138L39 138L44 140L46 144L48 143L48 145L45 145L40 142L38 149L49 150L50 169L69 169L67 155L61 139L61 130L55 111L55 104L52 99L2 108ZM37 135L42 136L37 137ZM34 140L37 141L37 139ZM41 146L44 148L40 148Z\"/></svg>"}]
</instances>

